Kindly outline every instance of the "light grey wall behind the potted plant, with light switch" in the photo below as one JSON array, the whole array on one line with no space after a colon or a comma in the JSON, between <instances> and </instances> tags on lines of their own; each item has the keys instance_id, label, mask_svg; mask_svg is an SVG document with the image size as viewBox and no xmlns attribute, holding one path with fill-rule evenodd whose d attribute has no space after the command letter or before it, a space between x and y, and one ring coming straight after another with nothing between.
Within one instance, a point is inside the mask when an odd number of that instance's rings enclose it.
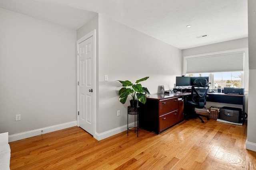
<instances>
[{"instance_id":1,"label":"light grey wall behind the potted plant, with light switch","mask_svg":"<svg viewBox=\"0 0 256 170\"><path fill-rule=\"evenodd\" d=\"M136 80L149 76L142 86L151 94L158 86L173 88L175 77L181 76L181 50L131 29L99 14L99 111L97 133L127 124L127 106L118 100L121 84L116 80ZM108 82L104 75L108 75ZM117 116L117 110L121 115ZM130 122L134 118L130 118Z\"/></svg>"}]
</instances>

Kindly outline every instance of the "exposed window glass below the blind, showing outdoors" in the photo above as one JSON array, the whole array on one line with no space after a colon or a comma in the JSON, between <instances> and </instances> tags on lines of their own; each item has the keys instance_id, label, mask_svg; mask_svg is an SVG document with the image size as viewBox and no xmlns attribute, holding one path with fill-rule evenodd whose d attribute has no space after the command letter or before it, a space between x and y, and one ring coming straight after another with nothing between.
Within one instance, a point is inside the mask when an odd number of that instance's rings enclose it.
<instances>
[{"instance_id":1,"label":"exposed window glass below the blind, showing outdoors","mask_svg":"<svg viewBox=\"0 0 256 170\"><path fill-rule=\"evenodd\" d=\"M186 76L190 76L190 77L208 76L209 83L210 83L209 85L211 86L211 89L217 89L218 87L243 88L242 74L243 72L217 72L217 73L186 74Z\"/></svg>"}]
</instances>

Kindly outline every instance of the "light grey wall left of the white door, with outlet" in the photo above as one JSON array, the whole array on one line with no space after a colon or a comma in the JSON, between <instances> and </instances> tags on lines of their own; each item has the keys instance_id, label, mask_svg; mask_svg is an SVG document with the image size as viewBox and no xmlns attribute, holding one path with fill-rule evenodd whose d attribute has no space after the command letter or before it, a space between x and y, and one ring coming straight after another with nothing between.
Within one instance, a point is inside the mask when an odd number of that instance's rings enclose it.
<instances>
[{"instance_id":1,"label":"light grey wall left of the white door, with outlet","mask_svg":"<svg viewBox=\"0 0 256 170\"><path fill-rule=\"evenodd\" d=\"M76 30L2 8L0 20L0 133L76 121Z\"/></svg>"}]
</instances>

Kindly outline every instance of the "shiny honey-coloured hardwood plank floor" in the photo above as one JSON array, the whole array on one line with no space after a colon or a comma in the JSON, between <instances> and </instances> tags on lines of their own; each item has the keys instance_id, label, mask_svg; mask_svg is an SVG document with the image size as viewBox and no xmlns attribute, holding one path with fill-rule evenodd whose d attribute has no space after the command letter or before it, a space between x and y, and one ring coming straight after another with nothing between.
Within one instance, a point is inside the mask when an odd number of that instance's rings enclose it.
<instances>
[{"instance_id":1,"label":"shiny honey-coloured hardwood plank floor","mask_svg":"<svg viewBox=\"0 0 256 170\"><path fill-rule=\"evenodd\" d=\"M190 119L156 135L126 131L97 141L79 127L10 143L11 170L256 170L247 125Z\"/></svg>"}]
</instances>

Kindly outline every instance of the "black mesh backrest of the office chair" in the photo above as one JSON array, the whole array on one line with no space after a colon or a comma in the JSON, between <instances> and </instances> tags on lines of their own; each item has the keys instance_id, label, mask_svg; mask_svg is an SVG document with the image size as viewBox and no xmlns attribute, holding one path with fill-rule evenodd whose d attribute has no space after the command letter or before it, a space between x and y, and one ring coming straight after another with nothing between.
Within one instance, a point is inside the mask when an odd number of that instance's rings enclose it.
<instances>
[{"instance_id":1,"label":"black mesh backrest of the office chair","mask_svg":"<svg viewBox=\"0 0 256 170\"><path fill-rule=\"evenodd\" d=\"M205 78L197 78L191 87L191 100L197 104L197 108L204 108L206 96L210 86Z\"/></svg>"}]
</instances>

